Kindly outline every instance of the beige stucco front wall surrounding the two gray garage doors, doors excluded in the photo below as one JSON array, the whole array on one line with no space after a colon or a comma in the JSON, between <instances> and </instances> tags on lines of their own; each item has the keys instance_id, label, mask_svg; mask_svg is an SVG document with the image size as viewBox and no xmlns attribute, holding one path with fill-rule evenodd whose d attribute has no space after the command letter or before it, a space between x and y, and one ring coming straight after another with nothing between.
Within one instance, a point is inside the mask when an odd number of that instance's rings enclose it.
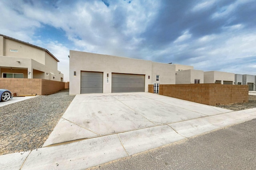
<instances>
[{"instance_id":1,"label":"beige stucco front wall surrounding the two gray garage doors, doors excluded","mask_svg":"<svg viewBox=\"0 0 256 170\"><path fill-rule=\"evenodd\" d=\"M161 83L175 84L175 66L171 64L72 50L70 50L69 63L70 95L80 94L81 71L103 72L103 93L111 93L112 73L144 74L145 92L148 92L148 84L152 84L156 74L160 75ZM158 67L162 67L162 70L159 70ZM76 71L76 76L74 76L74 71ZM107 73L109 82L106 81ZM150 76L149 79L148 76ZM170 78L165 78L165 76Z\"/></svg>"}]
</instances>

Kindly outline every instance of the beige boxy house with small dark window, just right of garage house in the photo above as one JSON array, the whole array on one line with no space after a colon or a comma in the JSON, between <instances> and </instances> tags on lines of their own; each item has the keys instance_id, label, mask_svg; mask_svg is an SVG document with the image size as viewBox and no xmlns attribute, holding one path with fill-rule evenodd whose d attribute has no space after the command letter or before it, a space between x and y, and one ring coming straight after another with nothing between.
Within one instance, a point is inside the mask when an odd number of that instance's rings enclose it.
<instances>
[{"instance_id":1,"label":"beige boxy house with small dark window, just right of garage house","mask_svg":"<svg viewBox=\"0 0 256 170\"><path fill-rule=\"evenodd\" d=\"M203 70L176 71L176 84L199 84L204 83Z\"/></svg>"}]
</instances>

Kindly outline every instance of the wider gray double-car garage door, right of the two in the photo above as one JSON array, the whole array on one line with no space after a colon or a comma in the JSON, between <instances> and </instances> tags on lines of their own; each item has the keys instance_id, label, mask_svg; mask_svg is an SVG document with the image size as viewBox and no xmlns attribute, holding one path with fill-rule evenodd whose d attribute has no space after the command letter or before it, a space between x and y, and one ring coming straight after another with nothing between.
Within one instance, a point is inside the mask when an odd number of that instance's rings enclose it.
<instances>
[{"instance_id":1,"label":"wider gray double-car garage door, right of the two","mask_svg":"<svg viewBox=\"0 0 256 170\"><path fill-rule=\"evenodd\" d=\"M112 93L145 92L145 75L112 73Z\"/></svg>"}]
</instances>

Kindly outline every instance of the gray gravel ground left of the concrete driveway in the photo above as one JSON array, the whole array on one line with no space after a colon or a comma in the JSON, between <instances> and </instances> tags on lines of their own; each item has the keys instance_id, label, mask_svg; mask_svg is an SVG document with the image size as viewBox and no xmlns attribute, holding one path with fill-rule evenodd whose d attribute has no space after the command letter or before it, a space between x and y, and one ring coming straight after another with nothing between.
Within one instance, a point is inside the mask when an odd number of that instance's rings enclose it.
<instances>
[{"instance_id":1,"label":"gray gravel ground left of the concrete driveway","mask_svg":"<svg viewBox=\"0 0 256 170\"><path fill-rule=\"evenodd\" d=\"M73 99L61 90L0 107L0 155L42 147Z\"/></svg>"}]
</instances>

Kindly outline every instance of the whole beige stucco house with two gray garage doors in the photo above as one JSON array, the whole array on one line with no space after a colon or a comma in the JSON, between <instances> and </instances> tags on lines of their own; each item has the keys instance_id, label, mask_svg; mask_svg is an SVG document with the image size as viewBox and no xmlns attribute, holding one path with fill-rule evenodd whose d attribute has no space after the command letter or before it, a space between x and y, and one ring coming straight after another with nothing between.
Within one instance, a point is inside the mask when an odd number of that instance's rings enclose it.
<instances>
[{"instance_id":1,"label":"whole beige stucco house with two gray garage doors","mask_svg":"<svg viewBox=\"0 0 256 170\"><path fill-rule=\"evenodd\" d=\"M70 50L70 95L148 92L148 84L175 84L175 65Z\"/></svg>"}]
</instances>

